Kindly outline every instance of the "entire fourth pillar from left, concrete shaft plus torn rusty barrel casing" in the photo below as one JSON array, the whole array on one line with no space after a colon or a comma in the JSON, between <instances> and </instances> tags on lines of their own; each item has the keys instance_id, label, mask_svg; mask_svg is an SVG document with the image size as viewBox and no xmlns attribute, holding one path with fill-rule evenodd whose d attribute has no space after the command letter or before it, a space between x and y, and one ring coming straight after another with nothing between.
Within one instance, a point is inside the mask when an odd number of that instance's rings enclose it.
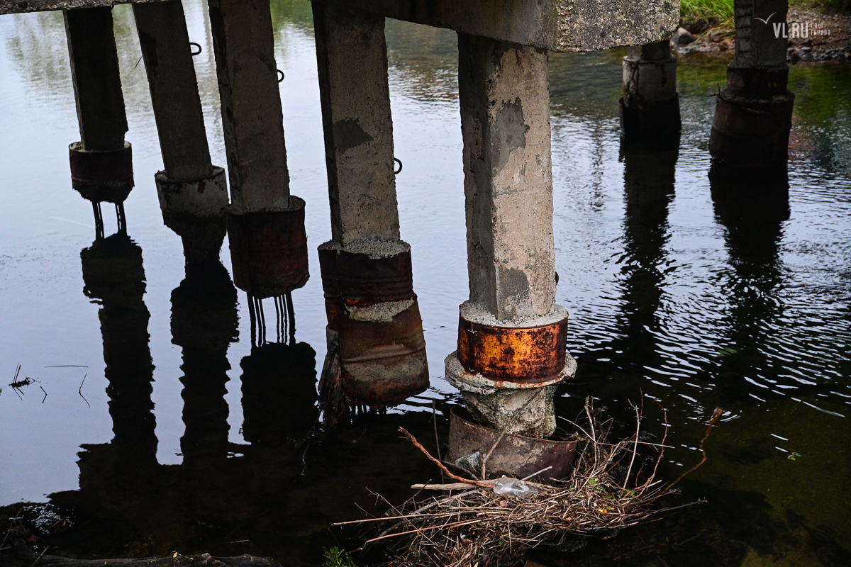
<instances>
[{"instance_id":1,"label":"entire fourth pillar from left, concrete shaft plus torn rusty barrel casing","mask_svg":"<svg viewBox=\"0 0 851 567\"><path fill-rule=\"evenodd\" d=\"M313 3L331 240L319 247L328 352L351 405L428 387L411 249L399 238L384 18ZM352 80L357 77L357 80Z\"/></svg>"}]
</instances>

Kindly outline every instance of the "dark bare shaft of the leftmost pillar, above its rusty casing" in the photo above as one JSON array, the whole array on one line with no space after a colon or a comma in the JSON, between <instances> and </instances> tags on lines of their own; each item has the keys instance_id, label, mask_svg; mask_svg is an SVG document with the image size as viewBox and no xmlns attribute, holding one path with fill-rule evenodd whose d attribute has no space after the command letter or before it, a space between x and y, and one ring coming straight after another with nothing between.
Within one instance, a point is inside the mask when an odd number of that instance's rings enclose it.
<instances>
[{"instance_id":1,"label":"dark bare shaft of the leftmost pillar, above its rusty casing","mask_svg":"<svg viewBox=\"0 0 851 567\"><path fill-rule=\"evenodd\" d=\"M66 10L64 14L82 149L122 150L127 116L112 9Z\"/></svg>"}]
</instances>

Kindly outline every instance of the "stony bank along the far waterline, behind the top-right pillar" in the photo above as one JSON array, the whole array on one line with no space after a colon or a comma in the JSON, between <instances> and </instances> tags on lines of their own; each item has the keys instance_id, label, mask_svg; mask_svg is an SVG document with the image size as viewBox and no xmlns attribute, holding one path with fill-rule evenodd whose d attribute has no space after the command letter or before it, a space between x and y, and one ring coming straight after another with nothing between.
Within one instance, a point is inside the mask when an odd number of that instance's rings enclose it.
<instances>
[{"instance_id":1,"label":"stony bank along the far waterline, behind the top-right pillar","mask_svg":"<svg viewBox=\"0 0 851 567\"><path fill-rule=\"evenodd\" d=\"M786 60L851 61L851 14L825 12L821 9L790 9L786 17L789 48ZM800 30L798 34L795 33ZM801 37L792 37L792 36ZM718 20L701 18L683 23L671 39L677 54L693 51L732 54L735 33Z\"/></svg>"}]
</instances>

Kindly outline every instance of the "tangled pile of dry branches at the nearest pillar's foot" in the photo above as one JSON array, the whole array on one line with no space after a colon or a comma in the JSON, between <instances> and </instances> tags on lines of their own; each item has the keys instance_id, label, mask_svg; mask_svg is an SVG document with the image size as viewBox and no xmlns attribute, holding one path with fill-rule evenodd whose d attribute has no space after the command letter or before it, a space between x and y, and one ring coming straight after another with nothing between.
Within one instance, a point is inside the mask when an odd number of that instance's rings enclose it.
<instances>
[{"instance_id":1,"label":"tangled pile of dry branches at the nearest pillar's foot","mask_svg":"<svg viewBox=\"0 0 851 567\"><path fill-rule=\"evenodd\" d=\"M721 412L720 408L716 409L706 437ZM426 502L411 499L403 507L393 508L390 517L346 523L392 522L379 536L367 541L367 544L380 540L393 543L397 556L391 560L391 565L466 567L477 564L487 567L497 564L500 557L521 553L544 541L558 542L570 534L619 530L656 519L674 508L660 508L654 502L670 494L683 477L669 485L656 479L656 469L665 452L667 418L660 444L639 440L641 414L638 409L636 419L635 434L629 439L609 443L612 420L600 422L591 400L586 400L584 427L574 423L578 429L575 437L580 443L572 477L557 485L527 482L536 491L523 497L497 495L493 490L494 480L486 480L484 471L481 479L463 479L450 473L403 430L403 434L436 462L443 473L460 481L454 485L414 487L426 490L463 487L467 490L431 497ZM706 437L700 442L701 451ZM656 451L652 470L644 470L639 464L642 460L639 445L651 445ZM704 459L694 468L704 461L705 453Z\"/></svg>"}]
</instances>

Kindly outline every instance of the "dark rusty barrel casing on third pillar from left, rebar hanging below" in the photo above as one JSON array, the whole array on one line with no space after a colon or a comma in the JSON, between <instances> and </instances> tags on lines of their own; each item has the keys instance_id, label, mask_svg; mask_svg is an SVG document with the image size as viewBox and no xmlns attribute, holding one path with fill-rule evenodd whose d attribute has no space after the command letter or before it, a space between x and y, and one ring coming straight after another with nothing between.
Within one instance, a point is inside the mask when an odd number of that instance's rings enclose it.
<instances>
[{"instance_id":1,"label":"dark rusty barrel casing on third pillar from left, rebar hanging below","mask_svg":"<svg viewBox=\"0 0 851 567\"><path fill-rule=\"evenodd\" d=\"M290 197L288 211L236 213L226 209L233 283L255 298L292 292L307 283L305 201Z\"/></svg>"}]
</instances>

